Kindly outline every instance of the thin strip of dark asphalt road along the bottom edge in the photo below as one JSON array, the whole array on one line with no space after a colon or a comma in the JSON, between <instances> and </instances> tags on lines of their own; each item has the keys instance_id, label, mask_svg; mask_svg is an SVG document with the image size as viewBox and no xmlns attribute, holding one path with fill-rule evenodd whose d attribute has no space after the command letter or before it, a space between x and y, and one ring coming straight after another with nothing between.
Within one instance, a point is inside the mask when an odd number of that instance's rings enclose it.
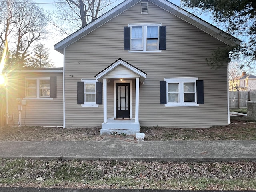
<instances>
[{"instance_id":1,"label":"thin strip of dark asphalt road along the bottom edge","mask_svg":"<svg viewBox=\"0 0 256 192\"><path fill-rule=\"evenodd\" d=\"M0 192L223 192L223 191L155 190L155 189L54 189L54 188L0 187ZM225 191L225 192L255 192L255 191Z\"/></svg>"}]
</instances>

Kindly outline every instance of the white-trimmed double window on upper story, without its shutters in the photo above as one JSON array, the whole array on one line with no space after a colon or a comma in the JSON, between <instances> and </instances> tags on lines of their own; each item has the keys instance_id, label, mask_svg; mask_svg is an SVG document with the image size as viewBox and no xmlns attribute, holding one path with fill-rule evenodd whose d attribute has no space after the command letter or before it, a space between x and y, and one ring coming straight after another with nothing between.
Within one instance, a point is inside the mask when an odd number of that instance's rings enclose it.
<instances>
[{"instance_id":1,"label":"white-trimmed double window on upper story, without its shutters","mask_svg":"<svg viewBox=\"0 0 256 192\"><path fill-rule=\"evenodd\" d=\"M161 24L129 24L131 51L158 51Z\"/></svg>"}]
</instances>

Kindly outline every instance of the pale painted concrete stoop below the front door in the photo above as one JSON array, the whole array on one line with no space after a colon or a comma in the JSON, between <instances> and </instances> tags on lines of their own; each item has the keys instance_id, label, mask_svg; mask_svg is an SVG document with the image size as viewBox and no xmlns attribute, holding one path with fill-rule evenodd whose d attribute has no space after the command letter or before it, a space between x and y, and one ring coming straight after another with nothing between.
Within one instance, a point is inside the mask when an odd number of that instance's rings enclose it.
<instances>
[{"instance_id":1,"label":"pale painted concrete stoop below the front door","mask_svg":"<svg viewBox=\"0 0 256 192\"><path fill-rule=\"evenodd\" d=\"M135 123L134 119L129 120L116 120L108 119L106 123L102 123L102 129L100 130L101 135L116 134L127 134L135 135L140 132L140 123Z\"/></svg>"}]
</instances>

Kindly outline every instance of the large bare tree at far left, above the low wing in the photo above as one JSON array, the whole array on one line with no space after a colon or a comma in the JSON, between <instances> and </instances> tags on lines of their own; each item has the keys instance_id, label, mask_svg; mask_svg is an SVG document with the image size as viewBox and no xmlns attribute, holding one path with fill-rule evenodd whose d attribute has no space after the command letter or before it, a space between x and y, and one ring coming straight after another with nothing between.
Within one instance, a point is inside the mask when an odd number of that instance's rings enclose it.
<instances>
[{"instance_id":1,"label":"large bare tree at far left, above the low wing","mask_svg":"<svg viewBox=\"0 0 256 192\"><path fill-rule=\"evenodd\" d=\"M0 14L1 48L5 46L7 68L22 67L29 48L46 34L47 21L42 7L31 0L4 1Z\"/></svg>"}]
</instances>

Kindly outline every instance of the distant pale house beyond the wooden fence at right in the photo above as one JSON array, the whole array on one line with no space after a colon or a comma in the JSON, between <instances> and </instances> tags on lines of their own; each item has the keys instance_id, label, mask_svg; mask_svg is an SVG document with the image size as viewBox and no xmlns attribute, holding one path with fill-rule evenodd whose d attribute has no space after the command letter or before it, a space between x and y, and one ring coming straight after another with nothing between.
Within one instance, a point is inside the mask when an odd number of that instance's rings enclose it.
<instances>
[{"instance_id":1,"label":"distant pale house beyond the wooden fence at right","mask_svg":"<svg viewBox=\"0 0 256 192\"><path fill-rule=\"evenodd\" d=\"M230 90L232 91L255 91L256 90L256 76L242 72L242 76L238 79L229 81Z\"/></svg>"}]
</instances>

